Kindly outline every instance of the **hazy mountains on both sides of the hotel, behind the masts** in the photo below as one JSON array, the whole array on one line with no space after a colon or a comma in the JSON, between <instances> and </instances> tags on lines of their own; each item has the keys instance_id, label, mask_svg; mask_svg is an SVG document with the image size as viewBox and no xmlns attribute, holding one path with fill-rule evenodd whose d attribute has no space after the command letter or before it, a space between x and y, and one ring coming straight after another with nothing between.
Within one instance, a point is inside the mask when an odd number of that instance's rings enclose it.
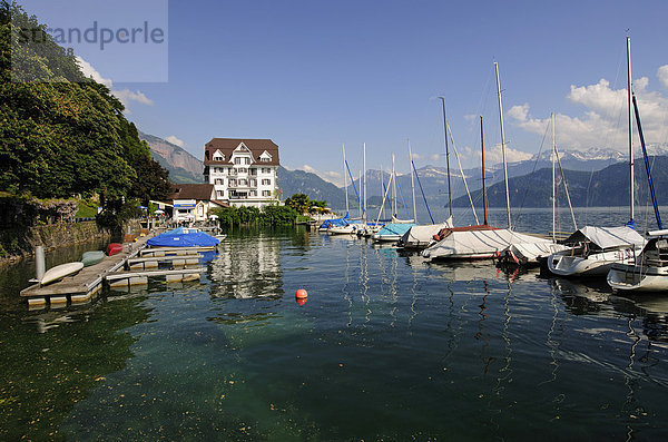
<instances>
[{"instance_id":1,"label":"hazy mountains on both sides of the hotel, behind the masts","mask_svg":"<svg viewBox=\"0 0 668 442\"><path fill-rule=\"evenodd\" d=\"M169 177L175 183L203 183L203 163L185 149L163 138L139 132L139 138L146 140L151 148L151 155L163 167L169 170ZM654 158L655 186L657 189L668 188L668 154L666 148L652 148L661 156ZM451 158L452 159L452 158ZM564 169L570 196L574 206L619 206L628 199L628 166L626 154L610 149L590 149L587 151L560 153L561 165ZM450 165L453 206L468 206L469 198L462 174L455 170L456 161ZM636 163L636 188L640 202L647 199L644 165L640 159ZM625 171L626 170L626 171ZM551 159L550 150L534 155L531 159L510 163L508 165L511 205L525 207L548 207L551 205ZM472 198L482 199L482 168L464 169L466 184ZM415 179L415 197L423 205L423 198L430 205L444 206L448 204L448 170L444 166L428 165L418 169ZM505 205L505 186L503 185L502 165L485 167L488 198L490 207ZM390 180L386 170L366 170L367 205L377 207L382 203L384 186ZM384 186L383 186L383 184ZM397 204L412 205L411 175L397 175ZM623 184L626 183L626 184ZM294 194L306 194L311 199L326 200L330 207L345 208L345 190L321 178L318 175L304 170L278 168L278 186L281 197L285 199ZM354 187L348 184L348 205L351 209L358 207L358 194L362 191L358 179ZM560 190L561 193L563 190ZM390 195L390 193L389 193ZM424 195L424 197L422 196ZM668 195L668 194L667 194ZM563 198L563 195L560 197ZM660 197L668 204L668 196Z\"/></svg>"}]
</instances>

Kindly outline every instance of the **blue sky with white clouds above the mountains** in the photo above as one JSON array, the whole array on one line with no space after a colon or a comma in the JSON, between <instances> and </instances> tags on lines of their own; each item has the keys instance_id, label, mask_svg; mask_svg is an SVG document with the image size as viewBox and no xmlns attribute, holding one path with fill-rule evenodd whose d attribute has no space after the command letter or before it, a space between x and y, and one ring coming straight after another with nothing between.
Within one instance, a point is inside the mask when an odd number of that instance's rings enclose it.
<instances>
[{"instance_id":1,"label":"blue sky with white clouds above the mountains","mask_svg":"<svg viewBox=\"0 0 668 442\"><path fill-rule=\"evenodd\" d=\"M493 164L494 62L509 160L549 148L551 112L561 150L623 151L627 36L646 139L668 143L665 0L126 1L20 3L49 26L91 17L102 26L114 3L117 28L118 11L165 28L163 45L143 47L148 55L118 43L76 53L140 130L200 159L214 137L271 138L283 166L341 184L343 144L355 175L364 143L367 168L389 168L394 153L406 173L410 140L418 168L444 166L442 96L462 166L480 164L480 116Z\"/></svg>"}]
</instances>

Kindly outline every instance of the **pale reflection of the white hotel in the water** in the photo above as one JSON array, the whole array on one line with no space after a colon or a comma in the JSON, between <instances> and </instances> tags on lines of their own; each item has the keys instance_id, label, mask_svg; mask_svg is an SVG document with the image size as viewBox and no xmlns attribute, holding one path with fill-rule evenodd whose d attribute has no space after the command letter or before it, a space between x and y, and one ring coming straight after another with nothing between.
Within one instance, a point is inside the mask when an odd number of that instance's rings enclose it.
<instances>
[{"instance_id":1,"label":"pale reflection of the white hotel in the water","mask_svg":"<svg viewBox=\"0 0 668 442\"><path fill-rule=\"evenodd\" d=\"M220 243L209 277L215 297L276 297L283 295L281 239L263 233L230 235Z\"/></svg>"}]
</instances>

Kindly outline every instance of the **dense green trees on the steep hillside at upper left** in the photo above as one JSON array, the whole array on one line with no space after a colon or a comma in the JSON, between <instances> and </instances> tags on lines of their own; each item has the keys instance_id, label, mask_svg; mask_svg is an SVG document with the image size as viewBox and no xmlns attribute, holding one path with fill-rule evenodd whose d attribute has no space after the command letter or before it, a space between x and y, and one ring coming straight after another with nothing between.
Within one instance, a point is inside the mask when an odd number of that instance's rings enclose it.
<instances>
[{"instance_id":1,"label":"dense green trees on the steep hillside at upper left","mask_svg":"<svg viewBox=\"0 0 668 442\"><path fill-rule=\"evenodd\" d=\"M124 202L164 198L168 173L124 105L85 78L46 28L0 1L0 188L40 198L98 194L112 216ZM38 38L26 43L26 29Z\"/></svg>"}]
</instances>

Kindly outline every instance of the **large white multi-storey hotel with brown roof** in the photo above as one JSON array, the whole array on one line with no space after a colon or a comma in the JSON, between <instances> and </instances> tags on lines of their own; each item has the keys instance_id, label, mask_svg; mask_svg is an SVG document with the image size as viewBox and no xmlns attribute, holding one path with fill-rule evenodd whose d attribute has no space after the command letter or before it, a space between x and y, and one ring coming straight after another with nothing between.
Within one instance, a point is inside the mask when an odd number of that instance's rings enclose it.
<instances>
[{"instance_id":1,"label":"large white multi-storey hotel with brown roof","mask_svg":"<svg viewBox=\"0 0 668 442\"><path fill-rule=\"evenodd\" d=\"M204 178L215 199L230 206L278 203L278 146L271 139L213 138L205 145Z\"/></svg>"}]
</instances>

